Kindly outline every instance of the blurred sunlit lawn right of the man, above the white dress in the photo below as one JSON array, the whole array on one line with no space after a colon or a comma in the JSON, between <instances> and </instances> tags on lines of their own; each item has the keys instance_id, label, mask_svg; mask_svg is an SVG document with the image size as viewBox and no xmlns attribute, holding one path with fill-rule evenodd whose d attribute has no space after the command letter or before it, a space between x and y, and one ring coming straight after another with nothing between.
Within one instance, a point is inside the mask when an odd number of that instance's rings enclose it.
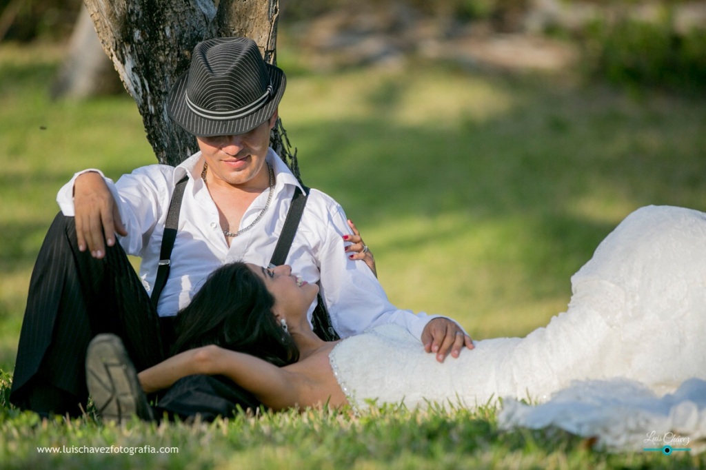
<instances>
[{"instance_id":1,"label":"blurred sunlit lawn right of the man, above the white dress","mask_svg":"<svg viewBox=\"0 0 706 470\"><path fill-rule=\"evenodd\" d=\"M294 78L282 116L393 302L474 337L563 311L570 275L635 208L706 207L706 112L679 97L413 66Z\"/></svg>"}]
</instances>

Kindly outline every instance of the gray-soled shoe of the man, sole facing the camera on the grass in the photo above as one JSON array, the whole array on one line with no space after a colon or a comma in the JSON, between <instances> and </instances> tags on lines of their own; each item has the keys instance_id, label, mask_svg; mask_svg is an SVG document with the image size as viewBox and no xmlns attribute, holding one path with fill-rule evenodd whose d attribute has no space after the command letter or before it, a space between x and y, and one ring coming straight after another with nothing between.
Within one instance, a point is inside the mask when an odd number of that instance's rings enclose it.
<instances>
[{"instance_id":1,"label":"gray-soled shoe of the man, sole facing the camera on the grass","mask_svg":"<svg viewBox=\"0 0 706 470\"><path fill-rule=\"evenodd\" d=\"M98 414L123 423L132 416L154 421L137 372L116 335L97 335L86 352L86 383Z\"/></svg>"}]
</instances>

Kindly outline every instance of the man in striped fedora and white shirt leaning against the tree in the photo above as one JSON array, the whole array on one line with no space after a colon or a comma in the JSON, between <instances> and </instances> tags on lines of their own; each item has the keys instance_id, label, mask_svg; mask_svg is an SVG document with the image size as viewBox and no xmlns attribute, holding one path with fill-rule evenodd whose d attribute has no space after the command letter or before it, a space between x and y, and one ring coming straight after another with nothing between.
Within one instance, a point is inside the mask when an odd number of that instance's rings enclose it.
<instances>
[{"instance_id":1,"label":"man in striped fedora and white shirt leaning against the tree","mask_svg":"<svg viewBox=\"0 0 706 470\"><path fill-rule=\"evenodd\" d=\"M124 339L138 370L152 366L169 354L169 322L164 319L189 303L210 272L237 260L270 263L301 186L268 147L285 85L285 74L265 64L253 41L201 42L189 71L169 92L168 104L172 119L197 136L200 151L177 167L142 167L117 183L88 169L61 188L61 214L49 229L30 282L13 404L40 414L78 414L88 397L83 363L92 337L114 332ZM169 277L155 309L149 296L169 204L184 177ZM304 280L320 282L338 335L399 323L438 360L449 351L457 356L464 345L472 347L453 321L391 305L371 270L343 253L350 235L340 205L312 190L287 258ZM140 278L125 253L142 258ZM309 315L312 311L313 306ZM212 383L205 392L198 389L201 385L189 385L174 392L178 399L162 398L160 404L189 414L202 406L190 398L198 393L225 394L227 401L237 402L240 397L230 394L231 385Z\"/></svg>"}]
</instances>

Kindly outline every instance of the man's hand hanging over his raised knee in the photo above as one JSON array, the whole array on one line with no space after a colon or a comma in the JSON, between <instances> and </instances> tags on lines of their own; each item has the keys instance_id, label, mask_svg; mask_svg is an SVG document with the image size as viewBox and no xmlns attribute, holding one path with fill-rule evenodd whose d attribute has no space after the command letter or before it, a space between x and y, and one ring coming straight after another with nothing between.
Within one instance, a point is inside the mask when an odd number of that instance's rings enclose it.
<instances>
[{"instance_id":1,"label":"man's hand hanging over his raised knee","mask_svg":"<svg viewBox=\"0 0 706 470\"><path fill-rule=\"evenodd\" d=\"M93 258L104 257L104 239L113 246L116 232L128 234L112 193L95 171L84 173L73 182L73 207L78 250L85 251L88 246Z\"/></svg>"}]
</instances>

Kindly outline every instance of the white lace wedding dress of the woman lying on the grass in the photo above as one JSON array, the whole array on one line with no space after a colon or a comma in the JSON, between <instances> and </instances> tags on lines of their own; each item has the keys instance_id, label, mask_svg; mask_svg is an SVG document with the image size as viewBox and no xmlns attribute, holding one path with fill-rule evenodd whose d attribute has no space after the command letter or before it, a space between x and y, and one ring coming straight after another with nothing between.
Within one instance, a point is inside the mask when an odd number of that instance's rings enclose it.
<instances>
[{"instance_id":1,"label":"white lace wedding dress of the woman lying on the grass","mask_svg":"<svg viewBox=\"0 0 706 470\"><path fill-rule=\"evenodd\" d=\"M585 424L600 421L597 412L625 423L637 413L631 402L645 411L652 400L655 412L669 417L665 403L679 400L659 397L698 378L676 395L693 406L675 416L686 423L683 432L706 438L706 397L693 400L706 394L706 214L664 206L633 212L571 282L568 311L527 337L478 341L473 351L438 363L406 330L385 325L337 344L331 366L358 408L371 402L479 406L504 398L501 426L570 422L564 427L586 430L583 435L600 428ZM551 398L560 390L558 413ZM611 413L596 397L612 400ZM544 403L544 409L516 399ZM676 418L662 425L674 427ZM647 426L645 435L664 433L657 421L633 425Z\"/></svg>"}]
</instances>

